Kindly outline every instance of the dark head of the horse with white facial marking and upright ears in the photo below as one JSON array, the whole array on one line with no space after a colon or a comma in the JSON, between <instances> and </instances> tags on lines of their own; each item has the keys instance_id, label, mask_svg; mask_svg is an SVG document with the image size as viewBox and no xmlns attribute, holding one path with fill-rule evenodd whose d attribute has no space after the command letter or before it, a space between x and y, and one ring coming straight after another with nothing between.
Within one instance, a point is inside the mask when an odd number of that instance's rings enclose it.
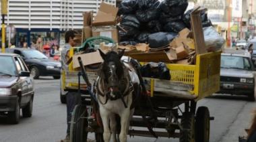
<instances>
[{"instance_id":1,"label":"dark head of the horse with white facial marking and upright ears","mask_svg":"<svg viewBox=\"0 0 256 142\"><path fill-rule=\"evenodd\" d=\"M121 62L125 50L119 53L111 51L106 54L101 50L99 51L100 56L104 60L99 76L104 80L104 84L106 84L109 92L119 94L122 90L123 78L125 77L123 63Z\"/></svg>"}]
</instances>

